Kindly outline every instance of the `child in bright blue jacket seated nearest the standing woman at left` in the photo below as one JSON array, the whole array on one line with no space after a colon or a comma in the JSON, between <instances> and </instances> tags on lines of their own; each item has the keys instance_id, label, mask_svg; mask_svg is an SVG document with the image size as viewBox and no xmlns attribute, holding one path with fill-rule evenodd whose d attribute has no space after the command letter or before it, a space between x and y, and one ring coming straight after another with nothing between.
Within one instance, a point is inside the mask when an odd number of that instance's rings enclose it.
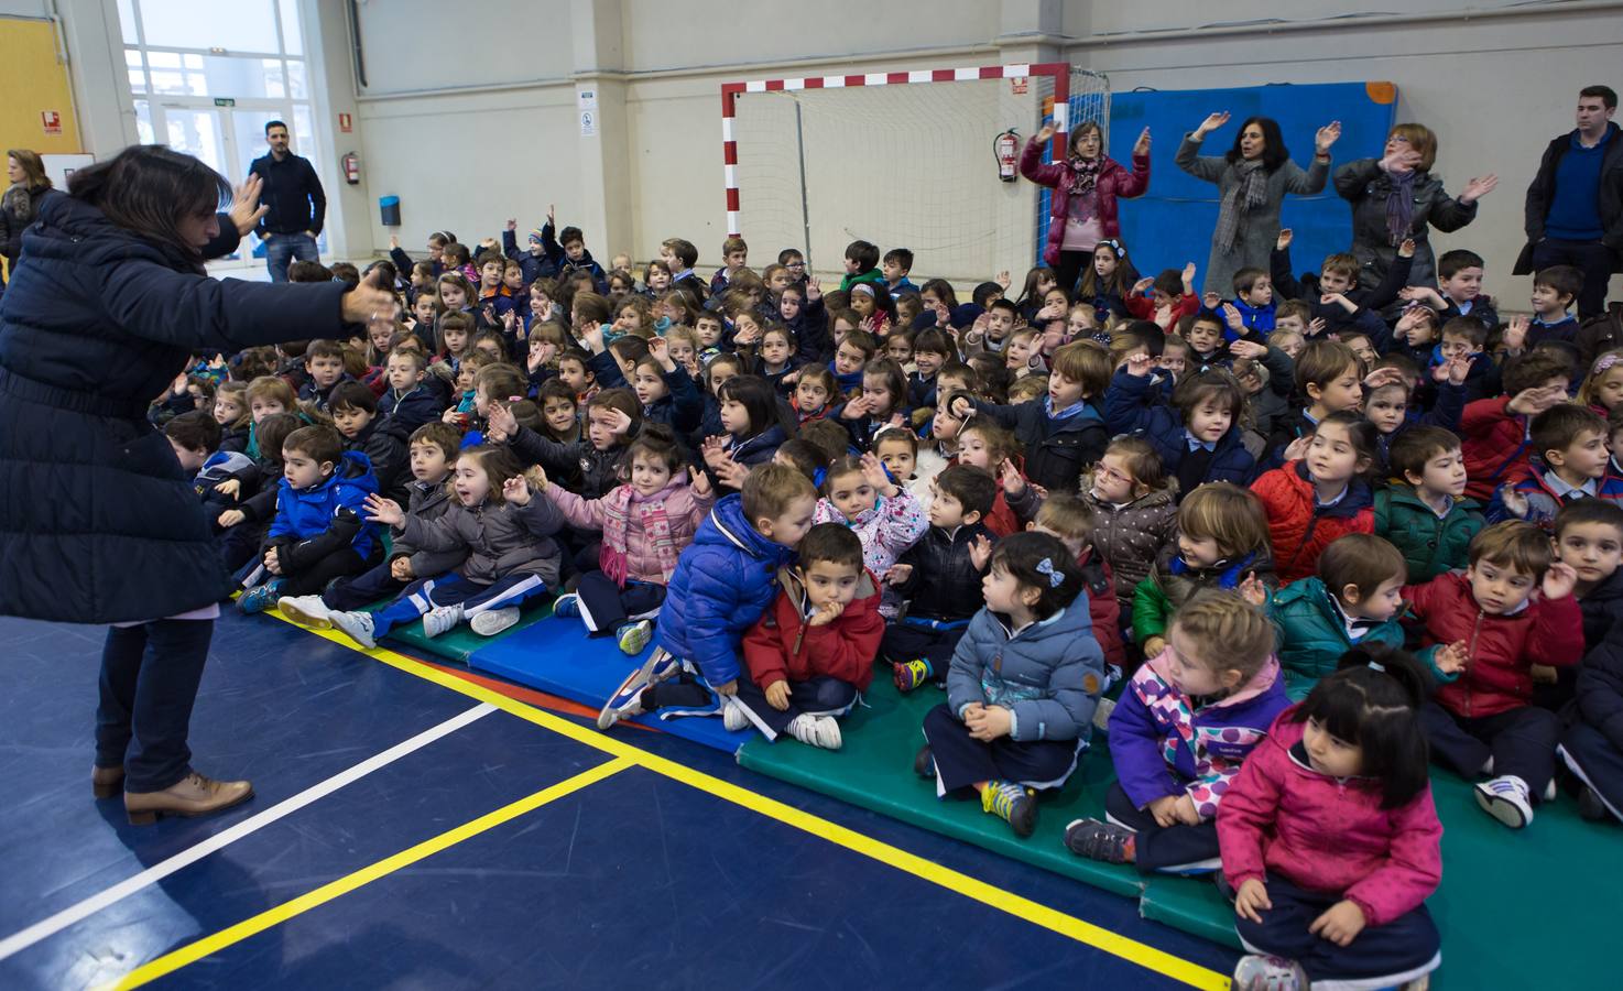
<instances>
[{"instance_id":1,"label":"child in bright blue jacket seated nearest the standing woman at left","mask_svg":"<svg viewBox=\"0 0 1623 991\"><path fill-rule=\"evenodd\" d=\"M360 574L381 550L362 503L378 491L372 462L344 451L331 427L300 427L282 441L276 521L260 564L242 582L237 608L258 613L282 595L320 592L334 577Z\"/></svg>"}]
</instances>

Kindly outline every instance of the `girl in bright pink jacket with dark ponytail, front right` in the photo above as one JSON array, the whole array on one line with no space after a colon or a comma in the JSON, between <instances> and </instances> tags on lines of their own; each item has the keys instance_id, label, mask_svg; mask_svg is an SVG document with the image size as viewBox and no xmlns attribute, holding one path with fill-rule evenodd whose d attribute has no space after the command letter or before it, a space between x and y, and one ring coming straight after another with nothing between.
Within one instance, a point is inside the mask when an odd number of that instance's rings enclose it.
<instances>
[{"instance_id":1,"label":"girl in bright pink jacket with dark ponytail, front right","mask_svg":"<svg viewBox=\"0 0 1623 991\"><path fill-rule=\"evenodd\" d=\"M1443 962L1425 900L1443 877L1420 702L1402 650L1349 650L1284 710L1217 809L1235 890L1235 991L1409 986Z\"/></svg>"}]
</instances>

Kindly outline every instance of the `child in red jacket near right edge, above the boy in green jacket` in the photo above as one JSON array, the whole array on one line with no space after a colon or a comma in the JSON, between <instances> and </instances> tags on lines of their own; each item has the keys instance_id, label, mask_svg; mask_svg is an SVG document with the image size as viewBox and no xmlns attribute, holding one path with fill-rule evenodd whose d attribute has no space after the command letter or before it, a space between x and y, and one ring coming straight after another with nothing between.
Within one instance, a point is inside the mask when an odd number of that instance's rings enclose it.
<instances>
[{"instance_id":1,"label":"child in red jacket near right edge, above the boy in green jacket","mask_svg":"<svg viewBox=\"0 0 1623 991\"><path fill-rule=\"evenodd\" d=\"M1532 350L1505 363L1505 396L1466 404L1459 418L1466 456L1466 495L1487 501L1501 485L1527 477L1532 444L1527 420L1566 402L1573 360L1558 350Z\"/></svg>"}]
</instances>

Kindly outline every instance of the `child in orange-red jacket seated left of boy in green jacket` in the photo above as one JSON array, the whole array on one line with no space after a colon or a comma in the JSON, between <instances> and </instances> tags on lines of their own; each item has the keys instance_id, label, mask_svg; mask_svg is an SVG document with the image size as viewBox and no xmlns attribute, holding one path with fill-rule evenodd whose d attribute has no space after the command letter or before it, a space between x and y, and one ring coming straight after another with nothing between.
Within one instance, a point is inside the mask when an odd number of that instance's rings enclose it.
<instances>
[{"instance_id":1,"label":"child in orange-red jacket seated left of boy in green jacket","mask_svg":"<svg viewBox=\"0 0 1623 991\"><path fill-rule=\"evenodd\" d=\"M1311 436L1290 441L1282 467L1251 483L1268 511L1281 584L1318 573L1319 553L1337 537L1375 532L1363 475L1376 461L1378 443L1375 423L1354 410L1334 412Z\"/></svg>"}]
</instances>

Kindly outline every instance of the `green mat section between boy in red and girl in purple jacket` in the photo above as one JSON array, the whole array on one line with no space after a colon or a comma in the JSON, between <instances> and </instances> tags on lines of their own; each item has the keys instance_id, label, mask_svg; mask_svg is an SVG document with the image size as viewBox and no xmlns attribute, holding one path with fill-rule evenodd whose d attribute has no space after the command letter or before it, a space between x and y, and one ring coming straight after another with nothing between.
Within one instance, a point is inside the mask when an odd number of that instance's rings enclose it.
<instances>
[{"instance_id":1,"label":"green mat section between boy in red and girl in purple jacket","mask_svg":"<svg viewBox=\"0 0 1623 991\"><path fill-rule=\"evenodd\" d=\"M1037 832L1022 840L1008 822L980 811L974 798L936 800L935 783L912 772L914 756L923 746L923 715L946 694L923 688L904 696L888 675L880 670L863 694L867 706L841 720L844 749L802 746L787 736L777 743L756 736L738 751L738 764L1118 895L1139 895L1144 879L1133 868L1083 860L1065 848L1066 822L1104 817L1105 792L1115 772L1102 736L1096 735L1071 780L1044 795Z\"/></svg>"}]
</instances>

